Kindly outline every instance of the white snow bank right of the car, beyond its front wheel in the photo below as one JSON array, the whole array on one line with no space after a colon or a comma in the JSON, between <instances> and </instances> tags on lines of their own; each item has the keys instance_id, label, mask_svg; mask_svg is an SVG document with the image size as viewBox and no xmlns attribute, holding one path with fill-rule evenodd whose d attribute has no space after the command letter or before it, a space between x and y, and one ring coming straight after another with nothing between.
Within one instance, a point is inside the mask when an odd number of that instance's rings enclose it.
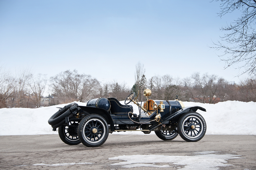
<instances>
[{"instance_id":1,"label":"white snow bank right of the car, beyond its front wheel","mask_svg":"<svg viewBox=\"0 0 256 170\"><path fill-rule=\"evenodd\" d=\"M183 102L185 106L201 106L206 120L206 135L256 135L256 103L225 101L217 104Z\"/></svg>"}]
</instances>

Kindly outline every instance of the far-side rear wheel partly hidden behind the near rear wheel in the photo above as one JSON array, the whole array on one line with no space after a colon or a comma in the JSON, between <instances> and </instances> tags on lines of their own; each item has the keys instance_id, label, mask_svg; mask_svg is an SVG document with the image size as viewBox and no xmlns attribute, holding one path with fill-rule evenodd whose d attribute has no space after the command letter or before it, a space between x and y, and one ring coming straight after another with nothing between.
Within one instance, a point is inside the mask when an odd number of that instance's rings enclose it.
<instances>
[{"instance_id":1,"label":"far-side rear wheel partly hidden behind the near rear wheel","mask_svg":"<svg viewBox=\"0 0 256 170\"><path fill-rule=\"evenodd\" d=\"M69 122L69 125L61 125L58 128L60 139L69 145L76 145L81 143L77 135L78 122Z\"/></svg>"}]
</instances>

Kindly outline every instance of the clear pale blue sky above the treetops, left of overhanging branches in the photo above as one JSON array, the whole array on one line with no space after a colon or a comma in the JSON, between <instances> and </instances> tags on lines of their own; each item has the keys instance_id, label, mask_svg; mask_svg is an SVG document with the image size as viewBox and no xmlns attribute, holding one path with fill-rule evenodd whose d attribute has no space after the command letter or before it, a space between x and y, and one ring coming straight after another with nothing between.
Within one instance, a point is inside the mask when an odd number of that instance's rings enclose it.
<instances>
[{"instance_id":1,"label":"clear pale blue sky above the treetops, left of overhanging branches","mask_svg":"<svg viewBox=\"0 0 256 170\"><path fill-rule=\"evenodd\" d=\"M228 81L219 51L208 46L237 14L219 18L206 0L0 0L0 65L54 76L76 69L99 81L134 84L140 61L146 78L193 72Z\"/></svg>"}]
</instances>

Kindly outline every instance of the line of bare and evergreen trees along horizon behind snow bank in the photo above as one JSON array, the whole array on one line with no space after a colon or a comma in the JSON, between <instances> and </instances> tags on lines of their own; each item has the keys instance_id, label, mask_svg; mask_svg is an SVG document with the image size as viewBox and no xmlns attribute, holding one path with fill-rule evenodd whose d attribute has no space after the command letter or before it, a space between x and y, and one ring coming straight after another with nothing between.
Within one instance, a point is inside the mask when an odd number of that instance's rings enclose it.
<instances>
[{"instance_id":1,"label":"line of bare and evergreen trees along horizon behind snow bank","mask_svg":"<svg viewBox=\"0 0 256 170\"><path fill-rule=\"evenodd\" d=\"M128 87L126 82L116 80L101 85L96 78L89 74L79 74L76 70L60 72L47 80L46 75L33 75L28 69L11 75L0 68L0 108L40 107L47 85L53 96L50 105L87 102L99 97L112 97L121 101L131 92L138 95L139 101L146 101L143 96L145 88L151 89L151 99L174 100L178 95L178 100L181 101L211 104L228 100L256 102L255 79L247 78L240 83L231 83L217 75L195 72L184 79L165 74L155 75L147 80L141 63L136 65L134 75L134 85Z\"/></svg>"}]
</instances>

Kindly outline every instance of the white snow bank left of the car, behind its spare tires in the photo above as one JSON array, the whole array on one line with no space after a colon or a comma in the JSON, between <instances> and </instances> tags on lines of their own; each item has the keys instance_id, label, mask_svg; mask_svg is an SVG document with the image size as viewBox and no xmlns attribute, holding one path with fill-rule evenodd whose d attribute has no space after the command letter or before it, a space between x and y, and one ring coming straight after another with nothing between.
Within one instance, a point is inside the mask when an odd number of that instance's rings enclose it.
<instances>
[{"instance_id":1,"label":"white snow bank left of the car, behind its spare tires","mask_svg":"<svg viewBox=\"0 0 256 170\"><path fill-rule=\"evenodd\" d=\"M86 103L76 102L80 106ZM36 109L29 108L2 108L0 109L1 131L0 135L47 135L58 134L53 132L48 119L67 104L59 104Z\"/></svg>"}]
</instances>

